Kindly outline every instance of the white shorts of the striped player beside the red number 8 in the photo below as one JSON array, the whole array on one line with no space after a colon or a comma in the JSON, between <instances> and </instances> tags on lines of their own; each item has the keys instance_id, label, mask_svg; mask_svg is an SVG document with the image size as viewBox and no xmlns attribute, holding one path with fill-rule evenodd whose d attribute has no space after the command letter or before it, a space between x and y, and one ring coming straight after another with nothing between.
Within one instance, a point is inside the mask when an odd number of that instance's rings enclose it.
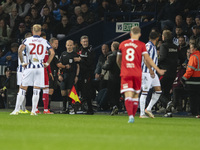
<instances>
[{"instance_id":1,"label":"white shorts of the striped player beside the red number 8","mask_svg":"<svg viewBox=\"0 0 200 150\"><path fill-rule=\"evenodd\" d=\"M150 88L155 86L160 86L158 75L155 74L155 77L152 78L150 73L142 73L142 90L149 91Z\"/></svg>"}]
</instances>

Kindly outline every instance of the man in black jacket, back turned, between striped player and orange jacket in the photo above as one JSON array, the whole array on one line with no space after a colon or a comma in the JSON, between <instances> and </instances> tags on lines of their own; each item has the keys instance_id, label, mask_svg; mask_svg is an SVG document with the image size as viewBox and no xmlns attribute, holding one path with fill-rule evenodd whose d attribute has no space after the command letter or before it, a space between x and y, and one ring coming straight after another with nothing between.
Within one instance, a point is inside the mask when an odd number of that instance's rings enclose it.
<instances>
[{"instance_id":1,"label":"man in black jacket, back turned, between striped player and orange jacket","mask_svg":"<svg viewBox=\"0 0 200 150\"><path fill-rule=\"evenodd\" d=\"M178 64L178 47L172 42L172 33L169 30L164 30L162 34L164 43L160 46L160 57L158 65L160 68L167 70L161 77L162 94L160 100L162 107L166 108L170 101L170 89L176 77Z\"/></svg>"}]
</instances>

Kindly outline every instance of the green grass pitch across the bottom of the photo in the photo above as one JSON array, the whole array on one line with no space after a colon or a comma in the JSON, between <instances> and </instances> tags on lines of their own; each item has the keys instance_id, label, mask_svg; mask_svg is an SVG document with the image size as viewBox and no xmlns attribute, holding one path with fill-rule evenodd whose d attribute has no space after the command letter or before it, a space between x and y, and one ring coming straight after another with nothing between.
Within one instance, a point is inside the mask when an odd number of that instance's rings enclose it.
<instances>
[{"instance_id":1,"label":"green grass pitch across the bottom of the photo","mask_svg":"<svg viewBox=\"0 0 200 150\"><path fill-rule=\"evenodd\" d=\"M118 115L10 116L0 112L0 150L199 150L200 119Z\"/></svg>"}]
</instances>

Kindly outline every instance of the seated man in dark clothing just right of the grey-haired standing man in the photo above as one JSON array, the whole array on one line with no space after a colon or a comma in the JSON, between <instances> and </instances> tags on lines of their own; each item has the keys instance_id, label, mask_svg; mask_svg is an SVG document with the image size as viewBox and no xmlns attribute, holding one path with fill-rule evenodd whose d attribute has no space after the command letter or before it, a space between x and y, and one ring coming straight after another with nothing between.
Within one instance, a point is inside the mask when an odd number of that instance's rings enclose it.
<instances>
[{"instance_id":1,"label":"seated man in dark clothing just right of the grey-haired standing man","mask_svg":"<svg viewBox=\"0 0 200 150\"><path fill-rule=\"evenodd\" d=\"M108 56L108 52L109 52L109 47L107 44L103 44L101 46L101 52L102 54L99 56L99 59L98 59L98 62L97 62L97 65L96 65L96 69L94 71L94 74L95 74L95 79L97 81L100 81L100 85L98 87L99 90L103 89L103 88L107 88L107 82L108 80L103 80L103 77L104 76L102 74L102 66L104 65L105 61L107 60L107 56Z\"/></svg>"}]
</instances>

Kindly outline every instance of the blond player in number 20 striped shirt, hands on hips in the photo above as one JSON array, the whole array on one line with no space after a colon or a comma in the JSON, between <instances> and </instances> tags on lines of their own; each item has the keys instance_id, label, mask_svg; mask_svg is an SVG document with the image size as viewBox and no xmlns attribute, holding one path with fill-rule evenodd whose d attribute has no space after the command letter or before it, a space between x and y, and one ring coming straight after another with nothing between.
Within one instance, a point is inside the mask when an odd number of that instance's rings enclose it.
<instances>
[{"instance_id":1,"label":"blond player in number 20 striped shirt, hands on hips","mask_svg":"<svg viewBox=\"0 0 200 150\"><path fill-rule=\"evenodd\" d=\"M17 95L15 110L11 115L18 115L20 105L24 100L28 86L33 86L32 111L31 115L36 114L36 107L39 101L40 89L44 88L44 67L47 67L54 57L54 50L47 40L40 37L41 25L33 25L33 36L26 38L19 49L19 58L23 67L26 69L23 72L22 84ZM22 52L26 49L28 64L24 62ZM49 59L43 63L46 51L50 51Z\"/></svg>"}]
</instances>

